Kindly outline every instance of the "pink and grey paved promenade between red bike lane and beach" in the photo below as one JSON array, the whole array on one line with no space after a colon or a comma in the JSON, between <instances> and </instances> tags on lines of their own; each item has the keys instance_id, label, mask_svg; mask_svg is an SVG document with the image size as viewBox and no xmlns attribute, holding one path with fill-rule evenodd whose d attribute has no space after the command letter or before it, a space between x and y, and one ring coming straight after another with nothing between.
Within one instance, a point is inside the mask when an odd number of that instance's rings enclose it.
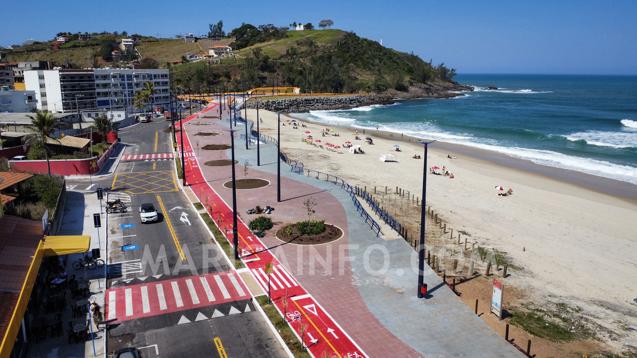
<instances>
[{"instance_id":1,"label":"pink and grey paved promenade between red bike lane and beach","mask_svg":"<svg viewBox=\"0 0 637 358\"><path fill-rule=\"evenodd\" d=\"M213 125L217 129L225 126L225 120ZM242 127L238 125L236 129L241 131ZM229 144L229 139L224 135L201 137L199 141L202 145ZM200 164L219 159L216 151L204 152L207 151L202 151ZM227 150L223 157L229 156ZM417 253L405 240L376 236L345 190L291 173L290 166L282 163L283 201L276 203L275 145L261 145L261 162L268 164L255 166L255 147L245 150L243 143L236 145L235 159L240 164L249 161L253 165L248 169L250 177L271 182L261 189L238 190L240 213L255 204L268 204L275 206L272 216L280 224L304 220L301 202L313 196L320 198L315 209L321 215L318 218L326 218L343 229L343 238L324 245L285 244L273 233L262 240L367 354L427 358L524 356L477 317L428 266L425 282L429 294L427 299L417 299ZM311 163L305 165L311 169ZM201 167L215 190L231 202L230 190L222 187L229 180L231 167ZM343 257L347 257L346 262Z\"/></svg>"}]
</instances>

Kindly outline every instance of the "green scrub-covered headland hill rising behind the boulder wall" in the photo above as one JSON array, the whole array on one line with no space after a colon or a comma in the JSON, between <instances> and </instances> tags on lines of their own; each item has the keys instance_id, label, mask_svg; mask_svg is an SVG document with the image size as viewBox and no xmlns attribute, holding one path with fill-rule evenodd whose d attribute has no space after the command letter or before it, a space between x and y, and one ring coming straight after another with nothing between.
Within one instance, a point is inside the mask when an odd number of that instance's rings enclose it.
<instances>
[{"instance_id":1,"label":"green scrub-covered headland hill rising behind the boulder wall","mask_svg":"<svg viewBox=\"0 0 637 358\"><path fill-rule=\"evenodd\" d=\"M218 64L173 66L175 84L192 92L206 92L218 86L241 90L274 84L301 87L301 92L356 93L405 91L417 83L452 82L455 75L454 69L443 64L434 67L417 55L382 47L354 32L287 31L268 39L254 29L234 29L230 33L237 36L235 47L248 45L235 50L236 57ZM254 43L255 38L267 40Z\"/></svg>"}]
</instances>

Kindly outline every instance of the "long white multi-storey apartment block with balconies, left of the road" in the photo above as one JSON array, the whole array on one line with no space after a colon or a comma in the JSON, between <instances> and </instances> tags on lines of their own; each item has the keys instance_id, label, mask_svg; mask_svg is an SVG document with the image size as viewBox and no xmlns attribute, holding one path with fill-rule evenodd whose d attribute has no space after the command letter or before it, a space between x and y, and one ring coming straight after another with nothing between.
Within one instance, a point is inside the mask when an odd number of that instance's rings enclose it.
<instances>
[{"instance_id":1,"label":"long white multi-storey apartment block with balconies, left of the road","mask_svg":"<svg viewBox=\"0 0 637 358\"><path fill-rule=\"evenodd\" d=\"M77 113L122 108L131 110L132 97L152 82L159 93L151 104L169 105L168 69L52 69L25 71L27 90L35 92L39 110Z\"/></svg>"}]
</instances>

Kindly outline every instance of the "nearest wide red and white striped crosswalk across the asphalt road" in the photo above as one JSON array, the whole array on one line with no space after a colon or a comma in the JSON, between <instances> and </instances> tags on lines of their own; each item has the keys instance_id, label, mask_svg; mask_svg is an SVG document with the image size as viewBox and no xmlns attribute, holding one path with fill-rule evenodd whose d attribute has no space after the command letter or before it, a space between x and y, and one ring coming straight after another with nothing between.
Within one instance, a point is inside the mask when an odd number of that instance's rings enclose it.
<instances>
[{"instance_id":1,"label":"nearest wide red and white striped crosswalk across the asphalt road","mask_svg":"<svg viewBox=\"0 0 637 358\"><path fill-rule=\"evenodd\" d=\"M106 290L107 320L131 320L250 298L233 271Z\"/></svg>"}]
</instances>

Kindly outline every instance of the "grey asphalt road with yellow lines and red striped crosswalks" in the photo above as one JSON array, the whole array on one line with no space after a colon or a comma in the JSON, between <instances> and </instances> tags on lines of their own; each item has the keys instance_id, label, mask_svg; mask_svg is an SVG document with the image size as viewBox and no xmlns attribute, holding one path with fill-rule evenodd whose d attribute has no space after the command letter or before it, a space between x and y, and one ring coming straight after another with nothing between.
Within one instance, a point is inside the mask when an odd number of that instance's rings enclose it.
<instances>
[{"instance_id":1,"label":"grey asphalt road with yellow lines and red striped crosswalks","mask_svg":"<svg viewBox=\"0 0 637 358\"><path fill-rule=\"evenodd\" d=\"M172 153L168 126L154 118L123 129L124 154ZM128 208L108 216L107 351L132 345L144 358L223 357L220 342L227 357L287 357L179 190L174 160L122 161L115 175L93 180ZM141 222L143 203L154 204L157 222Z\"/></svg>"}]
</instances>

